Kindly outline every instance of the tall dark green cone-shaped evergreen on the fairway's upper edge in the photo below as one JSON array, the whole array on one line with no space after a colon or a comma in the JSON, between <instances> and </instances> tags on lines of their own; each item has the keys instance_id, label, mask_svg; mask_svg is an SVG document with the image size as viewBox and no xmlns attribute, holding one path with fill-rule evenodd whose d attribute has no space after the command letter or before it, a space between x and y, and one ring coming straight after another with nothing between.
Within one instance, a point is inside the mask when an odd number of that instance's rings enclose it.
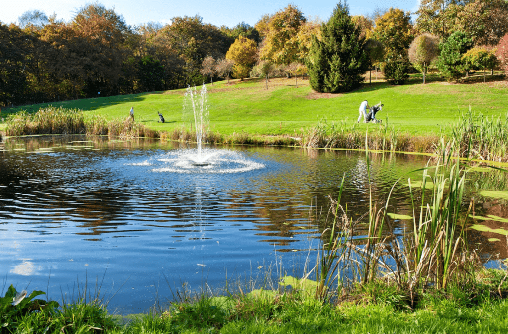
<instances>
[{"instance_id":1,"label":"tall dark green cone-shaped evergreen on the fairway's upper edge","mask_svg":"<svg viewBox=\"0 0 508 334\"><path fill-rule=\"evenodd\" d=\"M313 38L307 61L310 85L318 92L345 92L358 87L367 69L365 40L349 8L339 2L321 26L321 41Z\"/></svg>"}]
</instances>

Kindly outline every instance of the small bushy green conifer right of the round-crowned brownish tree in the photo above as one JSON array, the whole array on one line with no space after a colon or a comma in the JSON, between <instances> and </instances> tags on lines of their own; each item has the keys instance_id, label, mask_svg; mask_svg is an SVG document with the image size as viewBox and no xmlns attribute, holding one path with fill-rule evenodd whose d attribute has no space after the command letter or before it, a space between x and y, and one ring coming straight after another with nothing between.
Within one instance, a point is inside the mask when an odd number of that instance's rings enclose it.
<instances>
[{"instance_id":1,"label":"small bushy green conifer right of the round-crowned brownish tree","mask_svg":"<svg viewBox=\"0 0 508 334\"><path fill-rule=\"evenodd\" d=\"M455 31L439 45L437 69L447 81L456 81L464 72L462 55L471 47L471 39L462 31Z\"/></svg>"}]
</instances>

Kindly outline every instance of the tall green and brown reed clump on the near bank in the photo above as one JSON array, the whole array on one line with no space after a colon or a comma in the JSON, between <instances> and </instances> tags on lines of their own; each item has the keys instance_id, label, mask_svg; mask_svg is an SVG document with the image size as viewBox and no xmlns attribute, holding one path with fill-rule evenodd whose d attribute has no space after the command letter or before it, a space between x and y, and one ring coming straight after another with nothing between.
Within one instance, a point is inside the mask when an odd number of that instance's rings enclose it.
<instances>
[{"instance_id":1,"label":"tall green and brown reed clump on the near bank","mask_svg":"<svg viewBox=\"0 0 508 334\"><path fill-rule=\"evenodd\" d=\"M330 237L324 239L312 269L319 287L316 296L326 296L327 291L333 290L334 281L337 288L351 290L357 284L365 287L383 279L406 291L414 307L418 295L429 287L446 291L450 282L475 280L473 266L478 262L469 253L464 236L472 208L472 199L469 203L464 197L467 169L458 159L452 159L453 151L440 156L436 165L419 170L423 171L421 184L415 186L407 179L413 216L412 232L404 233L404 237L396 236L390 218L390 199L402 178L393 185L385 204L374 203L369 196L365 237L354 237L355 223L347 218L338 201L332 201L334 211L342 214L335 214L328 228ZM369 165L368 149L366 156ZM369 168L368 171L370 178ZM355 270L347 278L343 273L352 264Z\"/></svg>"}]
</instances>

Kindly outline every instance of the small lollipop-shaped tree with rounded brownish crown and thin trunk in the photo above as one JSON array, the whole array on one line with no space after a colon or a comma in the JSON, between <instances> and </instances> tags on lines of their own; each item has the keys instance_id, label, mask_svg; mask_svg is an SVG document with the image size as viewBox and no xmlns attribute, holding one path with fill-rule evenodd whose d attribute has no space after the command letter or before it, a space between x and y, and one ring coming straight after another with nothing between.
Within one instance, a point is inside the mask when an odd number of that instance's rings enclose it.
<instances>
[{"instance_id":1,"label":"small lollipop-shaped tree with rounded brownish crown and thin trunk","mask_svg":"<svg viewBox=\"0 0 508 334\"><path fill-rule=\"evenodd\" d=\"M409 45L409 61L415 68L422 72L423 83L425 84L425 74L430 62L439 55L439 38L425 34L417 36Z\"/></svg>"}]
</instances>

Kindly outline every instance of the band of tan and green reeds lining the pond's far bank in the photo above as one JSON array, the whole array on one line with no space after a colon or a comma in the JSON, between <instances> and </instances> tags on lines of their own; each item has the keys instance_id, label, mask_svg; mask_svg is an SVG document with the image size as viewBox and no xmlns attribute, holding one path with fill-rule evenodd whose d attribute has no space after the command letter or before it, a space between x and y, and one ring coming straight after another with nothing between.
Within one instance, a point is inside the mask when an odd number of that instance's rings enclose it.
<instances>
[{"instance_id":1,"label":"band of tan and green reeds lining the pond's far bank","mask_svg":"<svg viewBox=\"0 0 508 334\"><path fill-rule=\"evenodd\" d=\"M368 125L369 128L365 128ZM101 114L89 114L77 109L47 107L36 113L21 111L11 114L5 131L8 136L85 133L122 138L147 137L173 141L196 141L196 129L183 126L171 131L156 130L131 117L108 120ZM365 136L367 133L367 141ZM299 137L296 137L299 136ZM223 135L208 128L203 142L216 144L300 146L306 148L365 149L391 152L419 152L436 155L508 161L508 113L504 117L484 116L469 110L458 121L440 129L438 135L418 136L401 133L389 119L383 124L329 122L322 118L314 126L301 129L293 136L252 135L231 133Z\"/></svg>"}]
</instances>

